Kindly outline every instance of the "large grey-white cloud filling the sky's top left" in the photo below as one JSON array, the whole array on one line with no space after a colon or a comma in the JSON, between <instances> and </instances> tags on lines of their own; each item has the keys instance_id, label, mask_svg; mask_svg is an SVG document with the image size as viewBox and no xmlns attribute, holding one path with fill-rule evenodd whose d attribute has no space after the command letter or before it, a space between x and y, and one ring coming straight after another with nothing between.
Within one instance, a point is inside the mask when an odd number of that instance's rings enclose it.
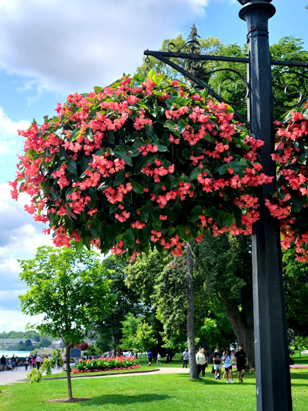
<instances>
[{"instance_id":1,"label":"large grey-white cloud filling the sky's top left","mask_svg":"<svg viewBox=\"0 0 308 411\"><path fill-rule=\"evenodd\" d=\"M88 91L132 73L209 1L0 1L0 66L27 77L25 88Z\"/></svg>"}]
</instances>

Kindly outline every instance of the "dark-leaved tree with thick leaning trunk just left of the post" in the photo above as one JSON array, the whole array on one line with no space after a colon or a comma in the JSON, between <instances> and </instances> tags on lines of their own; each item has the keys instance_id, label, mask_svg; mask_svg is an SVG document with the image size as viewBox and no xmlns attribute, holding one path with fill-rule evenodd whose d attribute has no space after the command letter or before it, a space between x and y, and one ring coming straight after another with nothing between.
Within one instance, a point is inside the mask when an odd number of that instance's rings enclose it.
<instances>
[{"instance_id":1,"label":"dark-leaved tree with thick leaning trunk just left of the post","mask_svg":"<svg viewBox=\"0 0 308 411\"><path fill-rule=\"evenodd\" d=\"M245 236L214 237L208 232L194 251L206 292L221 299L238 343L245 347L248 364L255 366L250 241Z\"/></svg>"}]
</instances>

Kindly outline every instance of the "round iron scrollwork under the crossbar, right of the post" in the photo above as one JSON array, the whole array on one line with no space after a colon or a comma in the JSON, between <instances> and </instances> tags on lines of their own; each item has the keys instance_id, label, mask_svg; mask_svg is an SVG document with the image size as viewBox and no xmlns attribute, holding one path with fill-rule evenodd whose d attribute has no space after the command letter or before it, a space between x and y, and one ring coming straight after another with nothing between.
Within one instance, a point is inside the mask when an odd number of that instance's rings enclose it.
<instances>
[{"instance_id":1,"label":"round iron scrollwork under the crossbar, right of the post","mask_svg":"<svg viewBox=\"0 0 308 411\"><path fill-rule=\"evenodd\" d=\"M281 107L294 108L308 98L308 76L298 71L279 73L272 79L272 86L274 101ZM279 96L279 90L283 92L282 96Z\"/></svg>"}]
</instances>

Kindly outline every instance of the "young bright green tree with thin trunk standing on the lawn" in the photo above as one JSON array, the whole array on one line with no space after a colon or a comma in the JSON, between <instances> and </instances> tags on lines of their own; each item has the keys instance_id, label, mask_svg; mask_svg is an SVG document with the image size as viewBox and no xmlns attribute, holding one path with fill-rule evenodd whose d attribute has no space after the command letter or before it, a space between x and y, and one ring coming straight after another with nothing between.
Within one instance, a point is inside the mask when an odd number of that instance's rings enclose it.
<instances>
[{"instance_id":1,"label":"young bright green tree with thin trunk standing on the lawn","mask_svg":"<svg viewBox=\"0 0 308 411\"><path fill-rule=\"evenodd\" d=\"M20 274L29 288L19 296L27 315L42 314L35 327L40 332L60 337L66 347L68 399L73 399L70 382L70 348L84 340L102 310L109 306L109 281L99 256L94 251L63 247L39 247L34 260L18 260Z\"/></svg>"}]
</instances>

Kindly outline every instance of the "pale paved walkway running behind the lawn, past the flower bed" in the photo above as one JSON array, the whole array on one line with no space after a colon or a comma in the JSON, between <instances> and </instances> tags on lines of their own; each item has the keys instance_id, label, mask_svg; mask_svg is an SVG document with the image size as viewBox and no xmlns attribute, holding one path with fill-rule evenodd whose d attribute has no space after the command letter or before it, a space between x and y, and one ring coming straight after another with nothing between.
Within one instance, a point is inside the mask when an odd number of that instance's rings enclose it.
<instances>
[{"instance_id":1,"label":"pale paved walkway running behind the lawn, past the flower bed","mask_svg":"<svg viewBox=\"0 0 308 411\"><path fill-rule=\"evenodd\" d=\"M155 367L153 367L153 370ZM129 372L129 374L132 375L156 375L156 374L174 374L174 373L189 373L189 369L182 369L182 368L174 368L171 366L162 366L161 368L158 369L159 371L146 371L142 373L133 373ZM53 369L52 373L53 374L58 374L60 370L58 369ZM0 371L0 386L2 385L9 385L9 384L14 384L15 382L25 382L22 381L27 378L27 373L29 373L29 367L27 371L25 371L25 366L18 366L17 371ZM99 375L99 378L106 378L106 377L127 377L128 374L122 374L118 373L116 375L114 374L102 374ZM84 378L92 378L93 375L87 375Z\"/></svg>"}]
</instances>

